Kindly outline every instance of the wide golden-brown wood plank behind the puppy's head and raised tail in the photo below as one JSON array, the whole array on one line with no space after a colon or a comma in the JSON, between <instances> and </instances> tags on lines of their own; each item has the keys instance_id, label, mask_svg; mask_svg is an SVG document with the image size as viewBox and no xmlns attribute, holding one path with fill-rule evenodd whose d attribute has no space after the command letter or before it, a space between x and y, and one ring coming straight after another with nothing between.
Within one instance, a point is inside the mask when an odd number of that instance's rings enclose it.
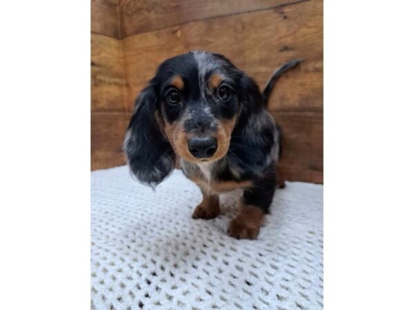
<instances>
[{"instance_id":1,"label":"wide golden-brown wood plank behind the puppy's head and raised tail","mask_svg":"<svg viewBox=\"0 0 414 310\"><path fill-rule=\"evenodd\" d=\"M190 50L226 55L260 86L282 63L302 58L277 84L270 110L322 110L322 1L196 21L122 40L128 107L159 63Z\"/></svg>"}]
</instances>

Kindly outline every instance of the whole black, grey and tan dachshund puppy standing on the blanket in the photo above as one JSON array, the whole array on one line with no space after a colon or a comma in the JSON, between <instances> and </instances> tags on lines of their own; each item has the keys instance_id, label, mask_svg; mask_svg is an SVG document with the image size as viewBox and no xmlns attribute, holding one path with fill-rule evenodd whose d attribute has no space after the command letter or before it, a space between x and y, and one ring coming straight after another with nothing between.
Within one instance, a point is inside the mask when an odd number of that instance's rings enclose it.
<instances>
[{"instance_id":1,"label":"whole black, grey and tan dachshund puppy standing on the blanket","mask_svg":"<svg viewBox=\"0 0 414 310\"><path fill-rule=\"evenodd\" d=\"M280 131L266 110L278 77L264 92L220 54L196 51L159 65L139 94L124 142L132 175L155 187L180 158L181 169L201 189L193 218L219 215L219 194L244 190L228 227L235 238L255 239L277 187Z\"/></svg>"}]
</instances>

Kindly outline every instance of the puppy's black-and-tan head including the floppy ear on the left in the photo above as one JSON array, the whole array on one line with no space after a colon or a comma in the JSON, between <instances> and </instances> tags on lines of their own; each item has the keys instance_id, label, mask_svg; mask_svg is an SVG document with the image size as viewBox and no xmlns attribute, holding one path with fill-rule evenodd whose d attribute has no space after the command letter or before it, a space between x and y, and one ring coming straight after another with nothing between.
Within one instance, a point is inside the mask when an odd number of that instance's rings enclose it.
<instances>
[{"instance_id":1,"label":"puppy's black-and-tan head including the floppy ear on the left","mask_svg":"<svg viewBox=\"0 0 414 310\"><path fill-rule=\"evenodd\" d=\"M153 186L172 172L176 155L193 163L226 156L246 93L261 100L254 81L219 54L190 52L161 63L126 134L132 174Z\"/></svg>"}]
</instances>

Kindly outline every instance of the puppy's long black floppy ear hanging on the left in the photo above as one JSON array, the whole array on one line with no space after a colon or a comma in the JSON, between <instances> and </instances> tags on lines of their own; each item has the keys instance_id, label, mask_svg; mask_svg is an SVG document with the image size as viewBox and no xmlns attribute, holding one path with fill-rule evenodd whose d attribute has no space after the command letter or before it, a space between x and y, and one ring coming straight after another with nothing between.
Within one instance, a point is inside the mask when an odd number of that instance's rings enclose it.
<instances>
[{"instance_id":1,"label":"puppy's long black floppy ear hanging on the left","mask_svg":"<svg viewBox=\"0 0 414 310\"><path fill-rule=\"evenodd\" d=\"M161 183L172 172L176 159L157 121L157 101L152 85L139 94L124 141L130 171L141 183L151 187Z\"/></svg>"}]
</instances>

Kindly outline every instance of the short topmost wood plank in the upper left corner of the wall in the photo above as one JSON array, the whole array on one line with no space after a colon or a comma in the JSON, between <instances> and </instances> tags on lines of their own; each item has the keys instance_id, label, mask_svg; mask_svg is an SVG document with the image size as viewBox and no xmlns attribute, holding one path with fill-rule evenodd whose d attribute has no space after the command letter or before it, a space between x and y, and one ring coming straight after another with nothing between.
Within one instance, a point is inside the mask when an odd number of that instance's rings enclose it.
<instances>
[{"instance_id":1,"label":"short topmost wood plank in the upper left corner of the wall","mask_svg":"<svg viewBox=\"0 0 414 310\"><path fill-rule=\"evenodd\" d=\"M120 39L118 0L90 1L90 31Z\"/></svg>"}]
</instances>

